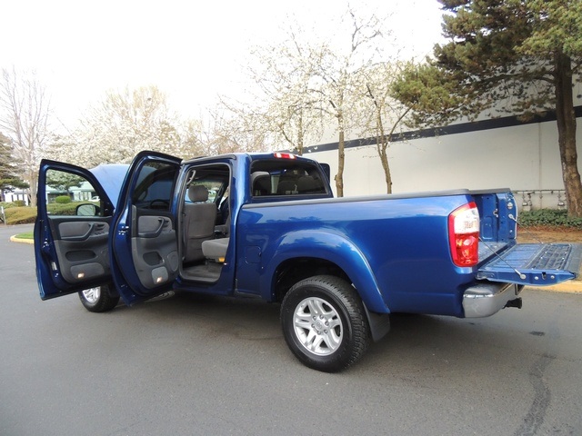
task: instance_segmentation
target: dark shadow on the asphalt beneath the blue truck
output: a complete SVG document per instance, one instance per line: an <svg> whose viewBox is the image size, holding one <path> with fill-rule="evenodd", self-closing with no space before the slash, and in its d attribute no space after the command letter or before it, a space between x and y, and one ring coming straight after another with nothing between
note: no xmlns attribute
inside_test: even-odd
<svg viewBox="0 0 582 436"><path fill-rule="evenodd" d="M148 323L182 324L183 328L233 341L272 341L271 345L288 357L279 309L279 304L255 299L170 292L131 309L120 305L115 312L134 312L137 318L145 316ZM534 333L527 335L530 342L543 340L543 332ZM387 367L392 373L426 372L431 377L439 371L491 372L493 377L497 374L492 372L494 368L516 363L515 354L507 350L515 349L515 342L522 341L524 334L508 331L491 318L393 314L390 332L381 341L371 343L364 358L348 372L384 371ZM531 352L536 352L535 346L528 354Z"/></svg>

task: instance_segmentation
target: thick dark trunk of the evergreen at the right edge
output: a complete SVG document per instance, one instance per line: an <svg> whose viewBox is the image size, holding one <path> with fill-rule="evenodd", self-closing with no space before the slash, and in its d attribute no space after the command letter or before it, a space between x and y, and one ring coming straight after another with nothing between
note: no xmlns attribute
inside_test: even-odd
<svg viewBox="0 0 582 436"><path fill-rule="evenodd" d="M582 183L577 166L576 114L572 99L572 61L563 53L556 54L556 117L557 143L566 189L567 213L582 218Z"/></svg>

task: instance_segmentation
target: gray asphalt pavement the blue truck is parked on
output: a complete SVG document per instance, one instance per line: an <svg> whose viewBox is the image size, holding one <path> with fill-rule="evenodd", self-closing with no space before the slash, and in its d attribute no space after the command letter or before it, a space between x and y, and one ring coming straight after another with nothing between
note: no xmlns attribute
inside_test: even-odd
<svg viewBox="0 0 582 436"><path fill-rule="evenodd" d="M582 434L582 294L486 319L396 315L346 372L296 362L278 307L169 294L108 313L41 302L0 226L0 434Z"/></svg>

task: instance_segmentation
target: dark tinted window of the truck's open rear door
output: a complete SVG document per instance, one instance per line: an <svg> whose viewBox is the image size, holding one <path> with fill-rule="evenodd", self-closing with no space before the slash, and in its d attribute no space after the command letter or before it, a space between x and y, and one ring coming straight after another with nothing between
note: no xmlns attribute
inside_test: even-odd
<svg viewBox="0 0 582 436"><path fill-rule="evenodd" d="M141 169L132 203L141 209L170 210L177 169L169 163L149 162Z"/></svg>

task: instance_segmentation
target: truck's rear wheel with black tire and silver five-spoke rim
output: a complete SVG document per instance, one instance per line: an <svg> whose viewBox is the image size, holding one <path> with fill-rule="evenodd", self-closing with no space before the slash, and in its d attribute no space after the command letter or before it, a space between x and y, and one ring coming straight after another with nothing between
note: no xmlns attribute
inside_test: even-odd
<svg viewBox="0 0 582 436"><path fill-rule="evenodd" d="M281 325L291 352L317 371L346 369L370 342L364 304L349 283L334 276L296 283L281 305Z"/></svg>

